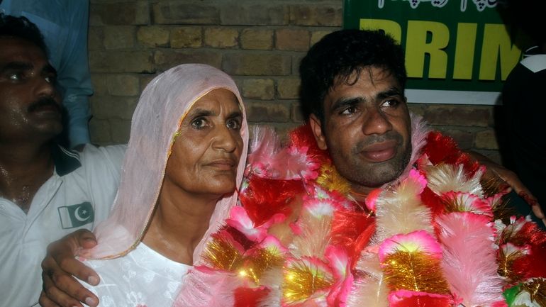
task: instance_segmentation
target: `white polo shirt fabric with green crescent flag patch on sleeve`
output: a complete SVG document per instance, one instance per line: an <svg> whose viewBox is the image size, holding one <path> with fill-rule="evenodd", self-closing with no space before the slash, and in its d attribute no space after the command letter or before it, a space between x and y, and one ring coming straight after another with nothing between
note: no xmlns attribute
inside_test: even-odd
<svg viewBox="0 0 546 307"><path fill-rule="evenodd" d="M40 262L48 244L74 230L91 229L108 217L125 149L124 145L87 145L79 154L82 165L64 176L57 174L56 169L35 194L28 214L15 203L0 198L1 307L37 304L42 289ZM76 154L64 154L78 159ZM69 206L85 202L94 210L94 222L90 221L89 212L76 211L80 220L87 217L89 223L82 221L84 225L72 227ZM78 221L74 217L72 214L72 221Z"/></svg>

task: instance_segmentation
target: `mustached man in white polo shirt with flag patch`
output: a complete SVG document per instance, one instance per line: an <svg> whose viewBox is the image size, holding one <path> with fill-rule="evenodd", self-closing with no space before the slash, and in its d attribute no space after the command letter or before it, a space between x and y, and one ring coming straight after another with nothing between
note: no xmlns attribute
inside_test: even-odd
<svg viewBox="0 0 546 307"><path fill-rule="evenodd" d="M42 35L0 14L0 306L38 303L48 244L104 220L125 146L55 144L62 106Z"/></svg>

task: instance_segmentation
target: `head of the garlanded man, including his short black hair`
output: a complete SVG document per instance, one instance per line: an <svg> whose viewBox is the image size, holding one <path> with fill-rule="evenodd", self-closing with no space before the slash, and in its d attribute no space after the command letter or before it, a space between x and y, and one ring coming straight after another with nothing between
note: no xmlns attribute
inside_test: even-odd
<svg viewBox="0 0 546 307"><path fill-rule="evenodd" d="M343 30L327 35L301 62L301 102L318 146L328 150L358 194L394 181L408 166L411 123L403 59L386 35ZM518 192L529 194L513 184L513 173L498 170Z"/></svg>

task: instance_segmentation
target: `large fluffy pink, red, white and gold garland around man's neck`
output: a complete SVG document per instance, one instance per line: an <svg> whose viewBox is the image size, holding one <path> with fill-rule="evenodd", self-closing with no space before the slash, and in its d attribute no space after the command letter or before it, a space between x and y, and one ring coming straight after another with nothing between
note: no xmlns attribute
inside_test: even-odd
<svg viewBox="0 0 546 307"><path fill-rule="evenodd" d="M451 138L413 124L419 155L365 206L307 126L286 147L255 132L243 206L174 306L546 307L545 233L506 217L506 189Z"/></svg>

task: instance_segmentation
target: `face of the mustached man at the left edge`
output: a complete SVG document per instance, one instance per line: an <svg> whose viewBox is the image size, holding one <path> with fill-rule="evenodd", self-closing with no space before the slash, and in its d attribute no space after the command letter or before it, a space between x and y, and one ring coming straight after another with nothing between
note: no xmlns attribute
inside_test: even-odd
<svg viewBox="0 0 546 307"><path fill-rule="evenodd" d="M27 40L0 37L0 142L50 140L62 131L55 69Z"/></svg>

